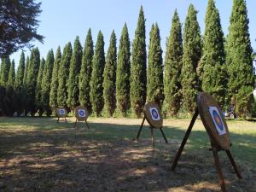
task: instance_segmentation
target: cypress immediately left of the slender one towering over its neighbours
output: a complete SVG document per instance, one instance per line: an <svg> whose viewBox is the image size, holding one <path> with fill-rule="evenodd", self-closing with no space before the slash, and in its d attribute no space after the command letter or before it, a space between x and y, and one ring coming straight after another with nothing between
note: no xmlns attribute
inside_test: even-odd
<svg viewBox="0 0 256 192"><path fill-rule="evenodd" d="M128 28L123 27L119 40L119 53L116 70L116 99L119 111L125 116L130 108L130 74L131 74L131 44Z"/></svg>

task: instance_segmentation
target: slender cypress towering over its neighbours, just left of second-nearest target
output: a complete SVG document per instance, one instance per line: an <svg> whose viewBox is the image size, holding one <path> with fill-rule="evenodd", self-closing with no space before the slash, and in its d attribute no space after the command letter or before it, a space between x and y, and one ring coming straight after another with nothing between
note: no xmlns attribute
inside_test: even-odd
<svg viewBox="0 0 256 192"><path fill-rule="evenodd" d="M147 53L146 53L146 29L143 6L140 9L137 20L137 29L132 44L131 55L131 107L140 117L147 94Z"/></svg>

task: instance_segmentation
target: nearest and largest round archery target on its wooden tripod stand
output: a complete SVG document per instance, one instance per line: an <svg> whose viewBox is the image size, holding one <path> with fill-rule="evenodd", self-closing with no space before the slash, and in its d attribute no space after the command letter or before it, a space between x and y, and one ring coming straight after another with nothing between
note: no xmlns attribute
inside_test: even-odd
<svg viewBox="0 0 256 192"><path fill-rule="evenodd" d="M189 138L189 134L193 128L193 125L195 124L195 120L198 114L200 114L201 121L205 126L207 134L211 140L212 148L210 150L212 150L215 166L218 172L219 185L221 190L226 192L227 190L225 187L224 175L220 167L218 151L224 150L226 152L238 178L241 178L241 173L238 171L236 162L230 152L230 132L228 130L228 126L224 119L223 113L221 113L221 108L219 108L218 103L214 101L213 97L205 92L202 92L197 97L197 108L195 109L195 114L189 124L189 128L183 137L183 142L181 143L181 146L177 151L177 155L172 163L172 171L174 171L175 167L177 166L177 160L183 152L183 148Z"/></svg>

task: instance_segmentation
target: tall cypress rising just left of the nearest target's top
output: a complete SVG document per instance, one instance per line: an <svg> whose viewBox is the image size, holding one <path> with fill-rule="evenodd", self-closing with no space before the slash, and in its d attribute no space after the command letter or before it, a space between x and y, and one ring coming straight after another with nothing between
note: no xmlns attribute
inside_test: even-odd
<svg viewBox="0 0 256 192"><path fill-rule="evenodd" d="M201 59L201 35L196 13L194 6L190 4L183 32L183 68L181 74L183 108L190 113L195 111L196 96L199 91L196 67Z"/></svg>

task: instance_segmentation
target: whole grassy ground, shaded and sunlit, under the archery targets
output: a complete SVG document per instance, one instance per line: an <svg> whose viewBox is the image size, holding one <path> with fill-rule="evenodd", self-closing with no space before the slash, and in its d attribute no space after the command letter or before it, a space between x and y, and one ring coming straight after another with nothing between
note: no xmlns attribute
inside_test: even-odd
<svg viewBox="0 0 256 192"><path fill-rule="evenodd" d="M143 129L142 119L89 119L90 129L74 119L0 118L0 191L220 191L209 139L201 121L184 148L175 172L172 160L189 119L164 120L169 141ZM221 165L228 191L256 191L256 123L228 121L231 152L239 180L224 152ZM148 126L146 126L148 127Z"/></svg>

